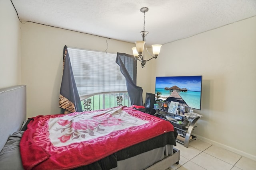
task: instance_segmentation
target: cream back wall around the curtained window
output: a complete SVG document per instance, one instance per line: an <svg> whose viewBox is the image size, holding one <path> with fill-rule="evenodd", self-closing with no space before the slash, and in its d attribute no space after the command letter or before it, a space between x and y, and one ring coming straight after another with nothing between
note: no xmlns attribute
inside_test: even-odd
<svg viewBox="0 0 256 170"><path fill-rule="evenodd" d="M108 39L108 53L132 54L134 44ZM106 38L27 22L22 25L22 84L27 85L27 117L60 113L63 48L105 51ZM148 63L147 63L148 64ZM150 64L138 63L137 85L150 91ZM147 83L148 82L148 83Z"/></svg>

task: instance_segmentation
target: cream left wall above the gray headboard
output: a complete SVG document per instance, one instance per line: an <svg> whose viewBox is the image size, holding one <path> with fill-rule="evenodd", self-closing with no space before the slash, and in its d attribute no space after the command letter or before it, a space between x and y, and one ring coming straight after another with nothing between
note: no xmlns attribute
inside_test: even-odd
<svg viewBox="0 0 256 170"><path fill-rule="evenodd" d="M0 88L21 83L20 21L10 0L0 0Z"/></svg>

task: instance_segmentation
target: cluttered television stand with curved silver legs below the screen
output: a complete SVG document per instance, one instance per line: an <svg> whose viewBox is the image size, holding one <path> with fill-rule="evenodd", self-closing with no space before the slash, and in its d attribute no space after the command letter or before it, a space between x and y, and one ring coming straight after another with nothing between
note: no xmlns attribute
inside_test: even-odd
<svg viewBox="0 0 256 170"><path fill-rule="evenodd" d="M170 121L172 123L173 127L176 129L178 132L178 137L176 138L176 141L178 143L182 143L184 147L188 147L188 143L194 139L196 139L196 136L191 135L192 131L196 127L196 122L202 117L202 115L199 115L197 113L193 113L191 116L186 117L184 115L180 114L173 114L173 113L168 113L167 111L163 111L161 108L156 109L156 114L157 117L160 117L166 121ZM194 116L197 115L197 116ZM188 121L189 124L179 124L178 121L175 121L174 119L167 118L168 116L178 116L182 117L184 120L183 122ZM181 135L179 135L181 134Z"/></svg>

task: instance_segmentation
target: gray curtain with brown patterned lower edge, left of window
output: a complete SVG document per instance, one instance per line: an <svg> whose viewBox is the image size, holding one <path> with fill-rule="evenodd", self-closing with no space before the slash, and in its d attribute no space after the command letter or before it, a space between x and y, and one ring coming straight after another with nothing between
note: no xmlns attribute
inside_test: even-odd
<svg viewBox="0 0 256 170"><path fill-rule="evenodd" d="M61 108L61 113L64 114L83 111L66 45L63 49L63 75L60 86L59 107Z"/></svg>

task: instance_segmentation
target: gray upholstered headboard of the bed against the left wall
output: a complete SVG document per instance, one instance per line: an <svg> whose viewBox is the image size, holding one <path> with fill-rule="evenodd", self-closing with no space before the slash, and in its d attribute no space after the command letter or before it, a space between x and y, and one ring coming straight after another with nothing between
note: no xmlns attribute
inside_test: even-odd
<svg viewBox="0 0 256 170"><path fill-rule="evenodd" d="M0 151L8 137L26 120L26 86L0 89Z"/></svg>

